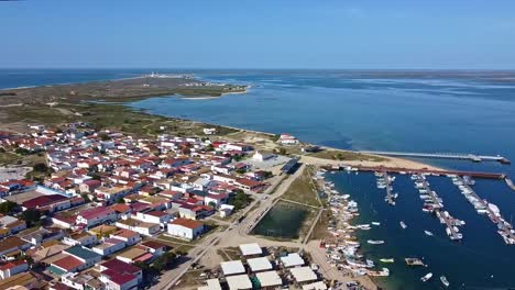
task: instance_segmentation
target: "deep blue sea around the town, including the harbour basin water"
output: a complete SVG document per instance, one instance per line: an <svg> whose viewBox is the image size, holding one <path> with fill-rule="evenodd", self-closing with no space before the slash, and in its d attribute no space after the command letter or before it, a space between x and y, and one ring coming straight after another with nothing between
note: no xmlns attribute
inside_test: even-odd
<svg viewBox="0 0 515 290"><path fill-rule="evenodd" d="M144 70L0 70L0 88L133 77ZM162 72L175 72L174 70ZM191 71L188 71L191 72ZM207 80L250 85L246 94L194 100L160 97L130 105L151 113L199 120L274 133L287 132L317 144L353 149L501 154L515 161L515 82L496 72L481 76L427 71L409 76L366 71L198 70ZM391 71L390 71L391 72ZM514 166L496 163L425 160L438 166L505 172ZM467 224L462 243L450 242L437 220L421 212L410 180L399 176L396 207L387 207L373 176L332 175L342 191L360 204L357 222L381 221L362 238L385 239L364 245L373 258L394 257L388 289L438 289L446 275L452 289L515 287L515 246L505 245L494 225L478 215L447 178L431 178L431 187L449 212ZM497 204L509 220L515 191L494 180L478 180L476 192ZM408 224L401 231L398 221ZM435 237L424 235L424 230ZM427 269L407 268L404 257L425 257ZM432 271L431 282L419 277ZM464 285L464 286L463 286Z"/></svg>

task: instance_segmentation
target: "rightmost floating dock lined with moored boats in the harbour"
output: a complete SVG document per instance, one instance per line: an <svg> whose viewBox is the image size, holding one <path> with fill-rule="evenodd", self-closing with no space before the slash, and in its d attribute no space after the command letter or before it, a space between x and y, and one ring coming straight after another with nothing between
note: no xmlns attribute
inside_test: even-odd
<svg viewBox="0 0 515 290"><path fill-rule="evenodd" d="M489 203L486 200L481 199L478 193L463 180L461 177L452 177L452 182L458 186L461 193L474 207L479 214L486 214L490 220L496 224L497 233L503 237L504 242L508 245L515 244L515 231L512 224L501 215L498 208L495 204Z"/></svg>

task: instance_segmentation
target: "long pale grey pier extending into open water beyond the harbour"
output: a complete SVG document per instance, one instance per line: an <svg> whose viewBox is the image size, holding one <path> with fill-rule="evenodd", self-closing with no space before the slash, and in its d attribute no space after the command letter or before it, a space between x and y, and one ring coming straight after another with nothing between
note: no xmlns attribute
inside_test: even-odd
<svg viewBox="0 0 515 290"><path fill-rule="evenodd" d="M434 159L454 159L454 160L472 160L481 161L497 161L501 164L511 164L503 156L461 154L461 153L413 153L413 152L385 152L385 150L362 150L363 154L386 155L393 157L413 157L413 158L434 158Z"/></svg>

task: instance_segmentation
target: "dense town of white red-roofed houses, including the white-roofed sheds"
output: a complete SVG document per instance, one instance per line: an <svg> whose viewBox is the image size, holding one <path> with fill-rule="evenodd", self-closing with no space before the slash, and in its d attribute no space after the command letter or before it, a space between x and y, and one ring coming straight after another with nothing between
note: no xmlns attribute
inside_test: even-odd
<svg viewBox="0 0 515 290"><path fill-rule="evenodd" d="M204 133L150 140L81 122L2 132L2 153L40 161L2 170L0 288L191 288L182 276L202 250L230 231L245 232L245 216L263 215L304 169L297 158L212 141L216 129ZM283 134L277 143L299 142ZM235 245L241 259L220 261L221 272L210 270L200 288L331 286L302 246L265 244Z"/></svg>

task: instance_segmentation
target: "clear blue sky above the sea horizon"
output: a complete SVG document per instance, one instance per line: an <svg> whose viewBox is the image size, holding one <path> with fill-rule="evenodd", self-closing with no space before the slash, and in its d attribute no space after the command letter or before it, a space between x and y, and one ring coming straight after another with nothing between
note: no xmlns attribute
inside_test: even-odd
<svg viewBox="0 0 515 290"><path fill-rule="evenodd" d="M0 68L515 69L515 1L0 1Z"/></svg>

